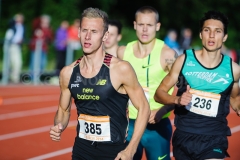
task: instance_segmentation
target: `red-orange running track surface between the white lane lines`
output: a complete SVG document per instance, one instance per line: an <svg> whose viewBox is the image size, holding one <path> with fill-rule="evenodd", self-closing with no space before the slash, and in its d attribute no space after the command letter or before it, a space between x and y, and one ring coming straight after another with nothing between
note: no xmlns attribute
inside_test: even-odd
<svg viewBox="0 0 240 160"><path fill-rule="evenodd" d="M33 87L34 88L34 93L38 94L40 97L42 95L44 95L44 93L46 93L46 91L48 91L49 89L47 87L41 88L42 86L40 86L38 89L38 87ZM48 86L49 87L49 86ZM22 87L6 87L6 90L8 90L7 93L9 95L2 95L3 90L1 88L0 91L0 97L6 97L6 98L14 98L14 97L18 97L18 94L15 94L14 97L11 97L11 92L10 90L19 90L22 92L21 93L21 97L24 97L25 95L25 91L29 91L31 87L29 87L28 89L25 89L24 86ZM50 92L52 93L56 93L57 96L59 96L59 87L50 87ZM44 93L42 93L44 92ZM9 96L9 97L8 97ZM31 94L27 93L26 96L31 96ZM51 104L49 104L51 103ZM28 111L31 109L41 109L41 108L47 108L49 106L53 106L53 105L57 105L58 104L58 100L56 100L55 102L39 102L39 104L35 104L34 103L22 103L16 106L15 105L7 105L7 106L3 106L0 103L0 115L1 113L1 109L2 107L4 107L4 109L8 109L11 107L18 107L20 108L20 110L18 111L22 111L21 109L24 108L23 111ZM29 105L29 106L28 106ZM26 107L28 106L28 107ZM26 108L25 108L26 107ZM73 108L75 106L72 106ZM12 112L16 112L16 110L11 110L7 113L12 113ZM48 115L49 116L46 116ZM2 120L0 120L0 125L3 126L3 128L7 128L8 125L11 125L11 123L13 123L14 125L12 125L10 128L18 128L17 125L19 125L20 123L16 123L16 121L18 122L22 122L22 127L26 127L26 129L31 129L29 128L32 123L35 123L35 127L33 128L37 128L37 127L41 127L40 124L42 124L42 126L47 126L47 125L51 125L53 122L53 117L54 117L54 113L48 113L48 114L40 114L37 116L32 116L29 115L27 116L28 118L25 119L26 117L18 117L18 118L12 118L12 119L6 119L6 121L4 123L1 123ZM39 116L39 117L38 117ZM37 121L35 121L35 117L38 117ZM170 115L170 118L173 119L174 114L172 113ZM237 119L239 117L236 116L235 113L230 113L229 117L228 117L228 121L229 121L229 126L230 127L236 127L238 125L240 125L240 121ZM15 119L15 121L14 121ZM25 120L24 120L25 119ZM33 121L34 119L34 121ZM39 121L39 119L42 119ZM13 121L11 121L13 120ZM46 121L45 121L46 120ZM76 121L76 110L74 111L74 113L71 115L71 120ZM29 127L28 127L29 125ZM37 127L36 127L37 126ZM10 128L8 128L10 130ZM173 126L174 128L174 126ZM18 129L15 129L14 131L22 131L23 128L19 127ZM2 129L1 129L2 130ZM1 130L0 130L0 135L1 135ZM6 132L8 133L12 133L12 132ZM69 147L72 147L73 145L73 141L74 141L74 137L76 136L76 131L75 131L75 127L69 127L67 128L62 135L62 140L61 142L53 142L51 141L50 137L49 137L49 131L45 131L45 132L41 132L41 133L36 133L36 134L31 134L28 136L22 136L22 137L18 137L18 138L13 138L13 139L8 139L8 140L4 140L4 141L0 141L1 145L0 145L0 157L3 157L4 160L8 160L8 159L29 159L29 158L34 158L34 157L38 157L41 155L46 155L48 153L57 153L57 151L62 150L62 149L66 149ZM234 132L233 135L231 137L229 137L229 153L231 155L231 160L239 160L239 151L238 148L240 147L240 144L238 143L238 137L240 136L240 132ZM8 151L10 150L10 151ZM1 159L1 158L0 158ZM70 153L65 153L62 155L57 155L55 154L54 157L51 158L46 158L49 160L57 160L57 159L71 159L71 152ZM174 158L172 158L174 159Z"/></svg>

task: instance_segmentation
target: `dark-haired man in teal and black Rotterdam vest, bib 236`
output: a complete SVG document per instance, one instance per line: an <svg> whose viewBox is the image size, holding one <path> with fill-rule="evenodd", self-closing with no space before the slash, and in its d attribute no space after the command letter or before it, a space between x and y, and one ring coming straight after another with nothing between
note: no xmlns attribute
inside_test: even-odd
<svg viewBox="0 0 240 160"><path fill-rule="evenodd" d="M176 160L228 157L229 105L240 114L240 67L221 53L228 18L208 11L200 20L201 50L186 50L163 79L155 100L175 104L173 155ZM168 90L178 82L177 96Z"/></svg>

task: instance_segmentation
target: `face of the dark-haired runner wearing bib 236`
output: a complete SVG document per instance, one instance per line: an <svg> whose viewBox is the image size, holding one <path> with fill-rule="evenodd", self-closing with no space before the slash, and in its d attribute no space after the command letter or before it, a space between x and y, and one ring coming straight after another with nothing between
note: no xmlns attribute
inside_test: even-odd
<svg viewBox="0 0 240 160"><path fill-rule="evenodd" d="M203 24L200 33L203 47L208 52L215 52L221 49L223 42L226 41L227 35L224 36L224 26L219 20L209 19Z"/></svg>

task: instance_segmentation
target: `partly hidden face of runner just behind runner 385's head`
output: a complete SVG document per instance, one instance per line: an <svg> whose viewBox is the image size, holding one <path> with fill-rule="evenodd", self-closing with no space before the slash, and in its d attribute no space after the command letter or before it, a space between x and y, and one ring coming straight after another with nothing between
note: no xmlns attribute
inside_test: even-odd
<svg viewBox="0 0 240 160"><path fill-rule="evenodd" d="M114 45L118 45L120 35L118 35L118 28L116 26L108 26L108 39L104 42L105 48L111 48Z"/></svg>

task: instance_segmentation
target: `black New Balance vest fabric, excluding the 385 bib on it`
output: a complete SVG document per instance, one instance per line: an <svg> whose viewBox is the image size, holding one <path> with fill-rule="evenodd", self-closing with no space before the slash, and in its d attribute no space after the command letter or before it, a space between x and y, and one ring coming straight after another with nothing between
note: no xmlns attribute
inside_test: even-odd
<svg viewBox="0 0 240 160"><path fill-rule="evenodd" d="M74 98L78 116L110 117L111 140L100 142L122 144L125 143L128 132L127 103L129 96L117 92L112 86L109 69L111 58L110 54L105 55L100 71L92 78L85 78L81 75L79 65L82 58L79 58L73 68L68 88ZM86 126L80 126L80 122L78 122L77 137L80 127Z"/></svg>

